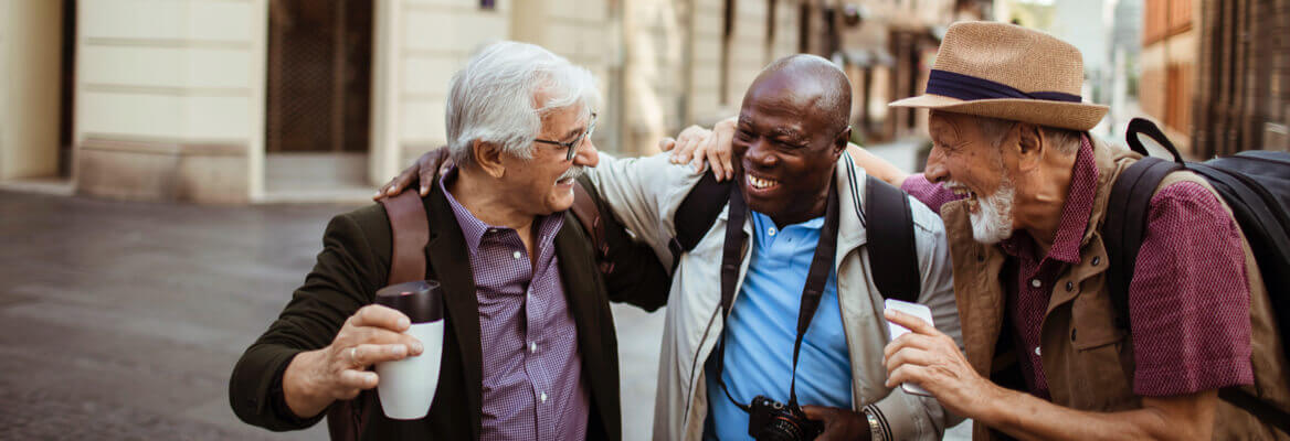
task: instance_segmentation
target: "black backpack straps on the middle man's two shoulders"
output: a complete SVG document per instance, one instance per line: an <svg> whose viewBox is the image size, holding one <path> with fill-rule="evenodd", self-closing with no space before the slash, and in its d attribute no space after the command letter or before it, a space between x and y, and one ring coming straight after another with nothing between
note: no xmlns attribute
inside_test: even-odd
<svg viewBox="0 0 1290 441"><path fill-rule="evenodd" d="M851 195L855 195L858 191L855 164L850 159L845 162L851 175L848 184L851 187ZM681 254L693 250L708 230L712 230L712 224L730 197L730 186L734 182L717 182L710 170L681 201L673 218L676 237L668 242L673 272ZM909 197L899 188L873 177L867 177L864 188L864 200L868 205L862 208L859 201L855 201L854 206L860 211L857 214L868 230L866 246L869 249L869 272L873 284L877 285L882 298L917 302L922 282L913 242L913 213L909 210Z"/></svg>

